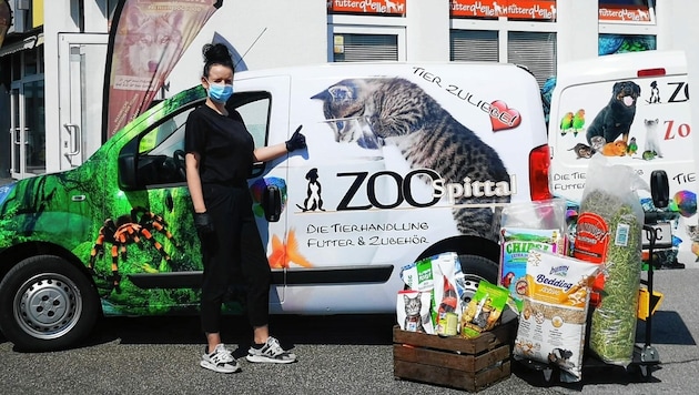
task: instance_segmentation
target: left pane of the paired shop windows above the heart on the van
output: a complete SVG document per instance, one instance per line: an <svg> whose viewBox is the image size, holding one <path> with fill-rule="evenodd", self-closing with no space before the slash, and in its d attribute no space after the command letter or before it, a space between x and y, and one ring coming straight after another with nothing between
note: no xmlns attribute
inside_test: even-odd
<svg viewBox="0 0 699 395"><path fill-rule="evenodd" d="M452 61L499 61L497 31L452 30L449 36Z"/></svg>

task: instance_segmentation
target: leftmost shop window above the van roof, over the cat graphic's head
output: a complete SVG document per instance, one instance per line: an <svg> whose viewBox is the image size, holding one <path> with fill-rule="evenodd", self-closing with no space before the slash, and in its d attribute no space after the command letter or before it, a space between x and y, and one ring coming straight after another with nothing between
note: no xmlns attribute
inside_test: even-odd
<svg viewBox="0 0 699 395"><path fill-rule="evenodd" d="M396 34L334 34L334 62L397 61Z"/></svg>

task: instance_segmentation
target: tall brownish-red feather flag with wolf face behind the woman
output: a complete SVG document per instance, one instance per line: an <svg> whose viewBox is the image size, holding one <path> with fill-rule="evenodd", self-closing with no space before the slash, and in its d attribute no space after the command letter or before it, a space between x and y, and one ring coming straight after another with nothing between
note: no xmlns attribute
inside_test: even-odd
<svg viewBox="0 0 699 395"><path fill-rule="evenodd" d="M125 0L110 33L107 138L148 109L221 3L222 0Z"/></svg>

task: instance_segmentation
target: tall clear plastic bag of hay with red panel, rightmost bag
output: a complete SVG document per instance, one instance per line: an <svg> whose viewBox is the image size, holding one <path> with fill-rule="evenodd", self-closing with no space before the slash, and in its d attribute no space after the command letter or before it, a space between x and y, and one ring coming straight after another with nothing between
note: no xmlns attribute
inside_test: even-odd
<svg viewBox="0 0 699 395"><path fill-rule="evenodd" d="M590 160L577 223L574 256L604 263L594 285L589 348L608 364L634 357L640 286L644 210L636 191L649 190L626 165Z"/></svg>

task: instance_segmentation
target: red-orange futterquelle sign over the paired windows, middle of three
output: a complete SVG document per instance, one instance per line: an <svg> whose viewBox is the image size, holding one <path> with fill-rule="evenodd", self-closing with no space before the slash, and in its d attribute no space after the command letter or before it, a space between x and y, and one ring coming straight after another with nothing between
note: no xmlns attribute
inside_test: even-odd
<svg viewBox="0 0 699 395"><path fill-rule="evenodd" d="M556 1L452 0L452 17L556 20Z"/></svg>

